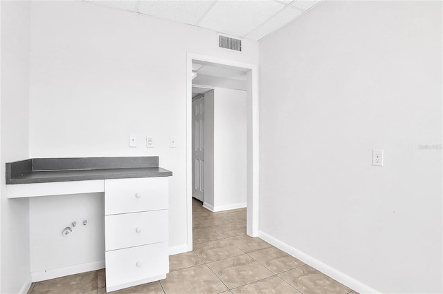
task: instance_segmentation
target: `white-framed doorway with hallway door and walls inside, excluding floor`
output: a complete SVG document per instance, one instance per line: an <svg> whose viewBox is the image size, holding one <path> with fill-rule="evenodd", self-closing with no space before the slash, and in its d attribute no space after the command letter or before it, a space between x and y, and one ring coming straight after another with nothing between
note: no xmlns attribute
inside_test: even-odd
<svg viewBox="0 0 443 294"><path fill-rule="evenodd" d="M246 233L257 237L257 67L250 63L188 53L187 91L188 251L192 250L192 203L195 206L195 199L213 212L247 207ZM222 99L224 97L228 98ZM220 115L220 111L224 114ZM214 119L215 114L217 119ZM215 133L208 136L214 131L220 136ZM218 139L211 141L208 137ZM224 139L233 139L238 150L233 148L235 144L224 148ZM205 148L207 150L203 152ZM237 168L233 162L238 163ZM219 193L214 193L214 187L210 186L214 184L214 175L211 174L214 170L215 173L223 170L218 175L226 175L216 187ZM236 170L239 171L239 179L235 179ZM220 180L219 177L216 177L217 180ZM219 187L228 190L218 190Z"/></svg>

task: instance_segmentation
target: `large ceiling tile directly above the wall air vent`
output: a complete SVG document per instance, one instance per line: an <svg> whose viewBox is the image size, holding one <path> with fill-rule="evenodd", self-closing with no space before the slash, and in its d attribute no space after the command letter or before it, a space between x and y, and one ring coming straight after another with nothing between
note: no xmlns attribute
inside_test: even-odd
<svg viewBox="0 0 443 294"><path fill-rule="evenodd" d="M243 37L282 8L276 1L217 1L197 26Z"/></svg>

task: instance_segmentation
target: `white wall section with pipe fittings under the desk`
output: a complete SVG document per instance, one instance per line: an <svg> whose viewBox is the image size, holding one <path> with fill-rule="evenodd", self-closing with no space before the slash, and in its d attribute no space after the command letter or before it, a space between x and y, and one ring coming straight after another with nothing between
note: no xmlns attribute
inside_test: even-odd
<svg viewBox="0 0 443 294"><path fill-rule="evenodd" d="M66 268L69 273L105 266L104 193L33 197L29 202L33 210L29 219L33 282L56 277L57 271L51 271L55 268L70 266ZM73 222L77 225L72 226ZM64 237L66 226L73 231ZM60 254L61 248L64 254Z"/></svg>

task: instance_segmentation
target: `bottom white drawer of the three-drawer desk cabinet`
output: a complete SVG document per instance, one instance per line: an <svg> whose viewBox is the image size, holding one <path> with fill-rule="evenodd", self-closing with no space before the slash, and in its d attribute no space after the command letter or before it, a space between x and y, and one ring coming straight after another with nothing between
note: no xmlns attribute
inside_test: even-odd
<svg viewBox="0 0 443 294"><path fill-rule="evenodd" d="M168 242L108 251L105 255L107 288L169 272Z"/></svg>

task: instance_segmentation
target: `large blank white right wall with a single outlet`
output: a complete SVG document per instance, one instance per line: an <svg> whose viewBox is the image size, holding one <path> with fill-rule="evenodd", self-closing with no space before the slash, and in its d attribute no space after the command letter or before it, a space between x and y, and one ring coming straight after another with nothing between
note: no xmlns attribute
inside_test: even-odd
<svg viewBox="0 0 443 294"><path fill-rule="evenodd" d="M325 1L260 42L261 235L356 291L442 293L442 49L441 1Z"/></svg>

